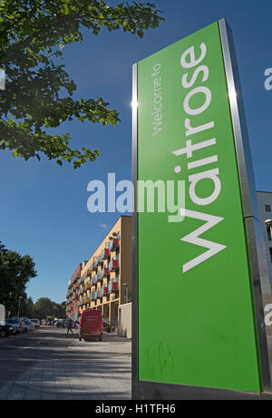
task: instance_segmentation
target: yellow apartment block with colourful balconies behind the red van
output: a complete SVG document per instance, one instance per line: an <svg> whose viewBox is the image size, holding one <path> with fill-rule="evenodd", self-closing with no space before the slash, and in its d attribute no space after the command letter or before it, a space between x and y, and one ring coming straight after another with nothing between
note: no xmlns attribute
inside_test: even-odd
<svg viewBox="0 0 272 418"><path fill-rule="evenodd" d="M73 275L69 297L74 295L78 316L83 309L99 309L105 322L118 326L118 306L131 302L131 261L131 217L121 216L92 257L83 262L80 275L78 269ZM67 315L71 314L68 310Z"/></svg>

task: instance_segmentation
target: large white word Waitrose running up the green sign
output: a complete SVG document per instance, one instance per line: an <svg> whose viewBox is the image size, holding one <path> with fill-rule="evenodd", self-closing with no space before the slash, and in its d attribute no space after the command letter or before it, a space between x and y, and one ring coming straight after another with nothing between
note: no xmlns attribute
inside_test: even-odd
<svg viewBox="0 0 272 418"><path fill-rule="evenodd" d="M188 180L189 180L189 198L196 205L207 206L213 203L218 199L221 191L221 181L219 179L219 168L218 168L218 154L217 154L217 140L216 138L210 138L209 140L204 139L213 135L213 129L215 128L215 121L205 122L196 126L198 118L194 122L194 117L199 116L206 111L209 111L209 105L212 99L212 92L208 86L205 85L205 82L209 79L209 66L203 64L203 60L207 55L207 45L203 42L199 45L199 58L196 58L195 46L190 46L184 53L182 53L180 58L180 65L183 70L181 77L181 86L184 90L189 91L184 97L183 101L183 111L186 114L184 119L184 138L189 137L185 142L185 146L179 150L173 151L173 154L176 156L185 156L185 161L182 159L182 164L187 165L188 170ZM188 71L188 73L184 73ZM193 69L191 74L189 70ZM204 83L204 85L203 85ZM200 84L200 85L199 85ZM196 100L195 106L191 107L191 102ZM197 102L197 100L201 102ZM205 114L204 114L205 117ZM209 121L210 116L208 115ZM216 119L216 115L213 118ZM192 121L192 122L191 122ZM194 126L193 126L194 125ZM201 132L202 140L198 140L198 134ZM184 143L183 142L183 143ZM182 142L181 142L182 143ZM200 151L203 149L209 148L209 157L201 158ZM206 150L205 150L206 151ZM181 160L181 159L180 159ZM181 166L176 166L176 172L181 171ZM214 168L216 167L216 168ZM196 169L196 170L194 170ZM211 180L211 185L213 187L212 192L206 197L199 197L196 189L199 184L203 183L201 180ZM224 245L199 238L199 235L209 230L209 228L217 225L224 218L201 213L195 210L189 210L185 208L180 209L180 214L185 217L193 219L201 219L206 222L206 224L184 238L181 238L183 241L209 248L206 253L201 254L197 258L190 260L185 263L182 267L183 272L188 271L190 268L198 266L200 263L206 259L214 256L222 249L226 248Z"/></svg>

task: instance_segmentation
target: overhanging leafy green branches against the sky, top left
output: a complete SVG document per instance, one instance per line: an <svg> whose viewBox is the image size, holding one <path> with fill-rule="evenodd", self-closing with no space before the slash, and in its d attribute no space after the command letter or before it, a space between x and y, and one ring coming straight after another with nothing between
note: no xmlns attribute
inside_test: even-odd
<svg viewBox="0 0 272 418"><path fill-rule="evenodd" d="M2 0L0 5L0 63L5 91L0 102L0 149L24 160L41 154L73 167L95 160L99 151L70 147L70 134L55 135L49 128L66 121L111 123L120 121L101 97L73 99L76 85L65 72L63 47L83 42L82 29L93 35L102 28L142 37L156 28L160 10L151 3L116 6L102 0Z"/></svg>

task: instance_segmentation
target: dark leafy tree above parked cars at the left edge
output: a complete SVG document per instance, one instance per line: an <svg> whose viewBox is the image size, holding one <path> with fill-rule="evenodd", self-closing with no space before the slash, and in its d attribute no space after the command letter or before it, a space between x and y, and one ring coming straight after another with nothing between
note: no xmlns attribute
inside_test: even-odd
<svg viewBox="0 0 272 418"><path fill-rule="evenodd" d="M17 315L19 297L26 299L26 285L36 277L34 267L33 258L5 248L0 241L0 303L11 315Z"/></svg>

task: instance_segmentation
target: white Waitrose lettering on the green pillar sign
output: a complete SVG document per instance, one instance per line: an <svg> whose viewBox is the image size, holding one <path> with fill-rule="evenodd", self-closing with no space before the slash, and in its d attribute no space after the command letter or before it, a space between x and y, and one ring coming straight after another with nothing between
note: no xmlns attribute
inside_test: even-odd
<svg viewBox="0 0 272 418"><path fill-rule="evenodd" d="M180 58L180 65L183 68L193 68L199 65L202 62L204 57L207 53L206 44L201 43L199 45L200 53L199 57L196 57L195 47L190 46L188 50L182 53ZM209 67L207 65L199 65L194 73L192 74L191 78L189 79L189 73L185 73L181 78L182 87L185 89L190 89L193 85L200 79L200 82L206 82L209 79ZM199 108L193 109L190 107L190 99L197 95L201 94L203 97L203 101ZM197 86L190 90L187 95L185 96L183 102L183 109L187 113L187 115L195 116L199 115L200 113L205 112L209 108L209 104L212 100L212 93L210 92L209 88L206 86ZM193 126L193 119L186 118L184 122L185 127L185 136L192 137L196 133L209 131L210 129L214 128L215 122L210 121L203 125ZM199 167L208 166L208 170L200 171L195 174L189 175L189 198L199 206L209 205L210 203L214 202L219 197L219 193L221 190L221 181L219 179L219 168L212 168L210 164L214 164L218 161L218 155L215 153L208 158L198 160L198 151L202 148L211 147L211 152L216 152L216 138L211 138L209 140L200 141L196 143L192 143L192 139L189 139L185 142L185 146L180 148L180 150L172 151L174 155L180 157L181 155L186 155L187 159L195 158L196 160L188 161L187 167L188 170L196 169ZM175 168L175 172L180 172L180 166ZM200 198L196 193L196 186L199 181L203 179L212 180L214 189L210 196L206 198ZM200 256L193 258L189 262L183 264L182 271L186 273L191 268L198 266L203 261L207 260L210 257L218 254L219 251L226 248L225 245L209 241L208 239L199 238L199 235L203 234L204 232L208 231L210 228L216 226L221 222L224 218L220 218L214 215L209 215L207 213L198 212L195 210L189 209L180 209L180 215L188 218L193 219L201 219L205 220L206 223L201 227L195 229L193 232L190 232L186 237L180 238L181 241L189 242L191 244L195 244L199 247L208 248L208 251L204 252Z"/></svg>

